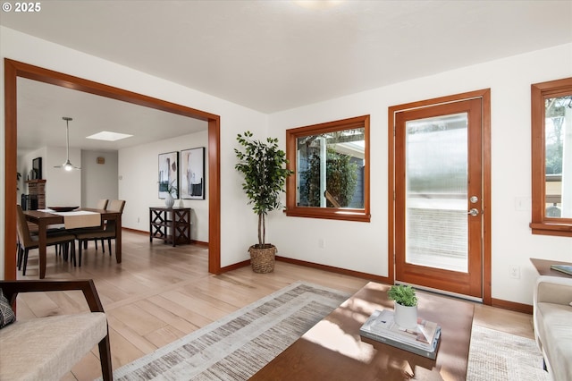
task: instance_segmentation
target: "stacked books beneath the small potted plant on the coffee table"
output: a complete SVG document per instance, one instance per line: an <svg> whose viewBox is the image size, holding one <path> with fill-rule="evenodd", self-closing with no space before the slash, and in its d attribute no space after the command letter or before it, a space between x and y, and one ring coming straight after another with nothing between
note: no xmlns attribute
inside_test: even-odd
<svg viewBox="0 0 572 381"><path fill-rule="evenodd" d="M437 357L441 326L418 318L416 328L404 328L393 320L393 311L376 309L359 328L359 334L434 360Z"/></svg>

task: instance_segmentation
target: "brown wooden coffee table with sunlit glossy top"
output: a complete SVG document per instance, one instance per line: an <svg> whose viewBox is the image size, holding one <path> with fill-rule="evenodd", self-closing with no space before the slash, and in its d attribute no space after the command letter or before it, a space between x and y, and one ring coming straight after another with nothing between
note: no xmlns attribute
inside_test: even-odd
<svg viewBox="0 0 572 381"><path fill-rule="evenodd" d="M387 284L369 283L260 369L252 380L465 380L473 304L417 292L418 314L442 326L435 360L363 338L375 309L393 309Z"/></svg>

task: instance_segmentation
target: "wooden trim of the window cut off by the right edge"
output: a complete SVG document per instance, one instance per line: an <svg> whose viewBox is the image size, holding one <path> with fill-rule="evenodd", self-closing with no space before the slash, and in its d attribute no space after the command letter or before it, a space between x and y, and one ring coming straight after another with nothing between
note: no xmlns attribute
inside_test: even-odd
<svg viewBox="0 0 572 381"><path fill-rule="evenodd" d="M544 99L572 94L572 78L551 80L531 85L531 131L532 131L532 221L533 234L572 237L572 218L547 217Z"/></svg>

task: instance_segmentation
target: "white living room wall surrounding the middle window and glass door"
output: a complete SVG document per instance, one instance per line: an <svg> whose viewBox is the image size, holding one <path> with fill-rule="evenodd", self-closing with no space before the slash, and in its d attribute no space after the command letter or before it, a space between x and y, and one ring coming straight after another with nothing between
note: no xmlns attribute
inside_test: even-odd
<svg viewBox="0 0 572 381"><path fill-rule="evenodd" d="M530 85L572 76L572 44L478 64L385 88L270 115L269 134L371 114L370 224L287 217L274 213L269 241L280 255L388 275L387 109L476 89L492 94L492 298L532 303L536 272L529 258L572 261L572 238L531 234ZM527 210L516 210L516 199ZM296 239L292 239L296 237ZM325 240L320 249L319 238ZM521 268L520 279L509 277Z"/></svg>

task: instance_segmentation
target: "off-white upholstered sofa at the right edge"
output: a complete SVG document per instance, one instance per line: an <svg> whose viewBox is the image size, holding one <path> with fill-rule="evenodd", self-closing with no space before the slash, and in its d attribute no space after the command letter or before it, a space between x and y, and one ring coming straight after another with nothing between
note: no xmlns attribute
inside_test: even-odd
<svg viewBox="0 0 572 381"><path fill-rule="evenodd" d="M540 276L533 307L534 336L549 374L572 380L572 277Z"/></svg>

